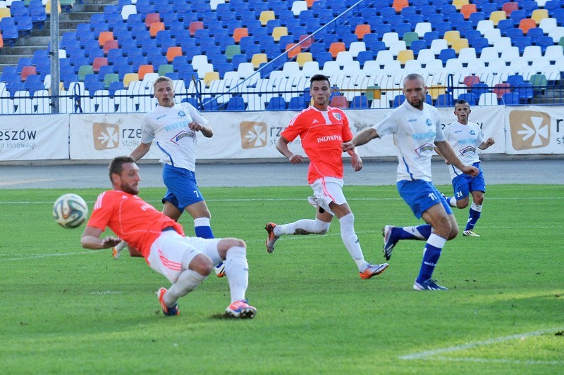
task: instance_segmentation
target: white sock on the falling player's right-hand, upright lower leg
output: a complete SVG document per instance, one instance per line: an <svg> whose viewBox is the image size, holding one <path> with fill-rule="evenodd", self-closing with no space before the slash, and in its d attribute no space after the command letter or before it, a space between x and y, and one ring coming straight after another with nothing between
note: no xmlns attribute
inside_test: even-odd
<svg viewBox="0 0 564 375"><path fill-rule="evenodd" d="M245 248L233 246L227 250L225 273L229 282L231 303L244 300L247 286L249 286L249 264Z"/></svg>

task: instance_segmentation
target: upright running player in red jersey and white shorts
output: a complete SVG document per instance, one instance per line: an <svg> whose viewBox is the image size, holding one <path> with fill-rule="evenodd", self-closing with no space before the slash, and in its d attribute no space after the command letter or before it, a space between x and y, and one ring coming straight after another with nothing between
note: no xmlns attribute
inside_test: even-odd
<svg viewBox="0 0 564 375"><path fill-rule="evenodd" d="M274 243L283 234L326 234L336 216L341 224L341 239L355 261L360 277L369 279L381 274L388 267L371 265L364 260L362 248L355 233L355 215L343 194L343 150L341 144L353 139L348 119L343 110L329 106L331 84L329 77L314 75L310 79L309 92L313 106L302 110L283 130L276 141L276 148L290 163L303 163L304 157L290 151L288 144L300 136L302 147L309 158L307 183L312 186L314 196L309 203L317 208L315 220L298 220L290 224L266 224L268 239L266 251L274 251ZM348 151L356 172L362 169L362 160L356 149Z"/></svg>

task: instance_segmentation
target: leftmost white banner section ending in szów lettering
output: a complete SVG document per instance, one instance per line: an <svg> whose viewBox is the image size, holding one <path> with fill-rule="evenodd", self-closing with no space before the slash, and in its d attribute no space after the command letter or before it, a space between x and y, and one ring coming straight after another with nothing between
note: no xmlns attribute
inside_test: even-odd
<svg viewBox="0 0 564 375"><path fill-rule="evenodd" d="M68 115L2 116L0 160L68 159Z"/></svg>

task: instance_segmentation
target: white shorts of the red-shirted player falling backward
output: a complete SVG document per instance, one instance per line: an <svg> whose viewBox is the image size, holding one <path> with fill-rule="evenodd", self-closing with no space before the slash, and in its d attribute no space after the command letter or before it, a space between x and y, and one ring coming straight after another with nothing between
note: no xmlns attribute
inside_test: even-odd
<svg viewBox="0 0 564 375"><path fill-rule="evenodd" d="M147 263L174 284L180 272L188 269L188 265L198 254L203 253L212 258L214 265L221 262L217 253L219 240L185 237L176 231L164 231L151 245Z"/></svg>

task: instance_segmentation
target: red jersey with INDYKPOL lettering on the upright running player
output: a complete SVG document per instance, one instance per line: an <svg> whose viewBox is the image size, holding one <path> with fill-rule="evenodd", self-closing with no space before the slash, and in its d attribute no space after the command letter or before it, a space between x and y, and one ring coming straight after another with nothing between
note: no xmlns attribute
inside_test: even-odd
<svg viewBox="0 0 564 375"><path fill-rule="evenodd" d="M298 136L302 139L302 148L309 158L308 184L321 177L343 178L341 144L353 139L343 110L309 107L295 115L281 135L290 142Z"/></svg>

